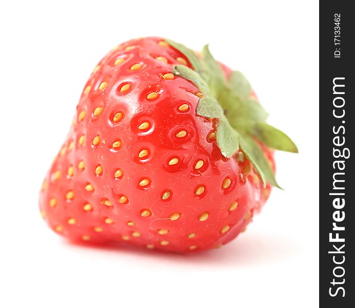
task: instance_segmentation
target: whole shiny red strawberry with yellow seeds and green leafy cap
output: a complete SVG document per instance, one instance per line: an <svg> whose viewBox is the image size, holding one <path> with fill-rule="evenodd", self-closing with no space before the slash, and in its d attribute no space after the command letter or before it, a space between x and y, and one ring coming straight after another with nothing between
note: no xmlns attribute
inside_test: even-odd
<svg viewBox="0 0 355 308"><path fill-rule="evenodd" d="M111 50L82 92L40 209L74 241L219 247L267 200L273 150L297 151L238 71L158 37Z"/></svg>

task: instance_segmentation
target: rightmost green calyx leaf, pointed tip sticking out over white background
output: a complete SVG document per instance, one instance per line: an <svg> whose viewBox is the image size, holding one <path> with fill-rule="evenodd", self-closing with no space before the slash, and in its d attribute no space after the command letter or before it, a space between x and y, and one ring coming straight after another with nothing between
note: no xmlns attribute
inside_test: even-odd
<svg viewBox="0 0 355 308"><path fill-rule="evenodd" d="M269 124L256 123L253 134L270 148L298 153L298 148L293 141L284 132Z"/></svg>

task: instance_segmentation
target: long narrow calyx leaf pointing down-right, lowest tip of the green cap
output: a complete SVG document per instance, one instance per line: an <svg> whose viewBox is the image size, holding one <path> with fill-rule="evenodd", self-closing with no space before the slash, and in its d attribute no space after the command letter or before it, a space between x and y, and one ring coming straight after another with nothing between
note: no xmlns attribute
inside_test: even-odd
<svg viewBox="0 0 355 308"><path fill-rule="evenodd" d="M281 188L276 182L273 170L259 144L246 136L240 139L240 145L247 159L259 172L264 187L266 182L269 182L271 185Z"/></svg>

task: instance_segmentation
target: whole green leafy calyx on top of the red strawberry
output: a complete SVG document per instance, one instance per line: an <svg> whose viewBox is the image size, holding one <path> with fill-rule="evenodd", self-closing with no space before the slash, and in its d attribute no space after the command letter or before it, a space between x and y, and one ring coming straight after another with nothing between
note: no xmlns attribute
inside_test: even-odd
<svg viewBox="0 0 355 308"><path fill-rule="evenodd" d="M297 146L281 130L266 124L268 113L252 95L252 88L239 71L233 71L229 80L211 55L206 45L199 59L184 45L165 40L183 53L193 69L184 65L174 66L172 73L191 81L204 94L200 99L197 114L218 119L217 144L222 155L231 158L238 150L259 172L263 185L266 182L280 188L275 180L258 140L266 146L288 152L298 152Z"/></svg>

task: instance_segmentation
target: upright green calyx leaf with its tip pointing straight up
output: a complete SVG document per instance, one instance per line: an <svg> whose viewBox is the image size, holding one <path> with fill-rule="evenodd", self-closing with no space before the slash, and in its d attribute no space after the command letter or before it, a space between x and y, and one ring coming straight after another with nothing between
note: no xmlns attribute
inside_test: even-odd
<svg viewBox="0 0 355 308"><path fill-rule="evenodd" d="M212 95L219 98L220 94L226 90L227 81L226 76L221 68L221 65L214 60L214 57L205 45L202 49L202 60L208 76L208 85L211 89Z"/></svg>

